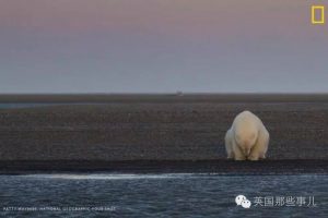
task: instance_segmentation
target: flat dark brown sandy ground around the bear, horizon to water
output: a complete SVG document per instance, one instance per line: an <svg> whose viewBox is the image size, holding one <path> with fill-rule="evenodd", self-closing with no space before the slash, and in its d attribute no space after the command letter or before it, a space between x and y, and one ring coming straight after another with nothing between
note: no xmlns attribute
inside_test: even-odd
<svg viewBox="0 0 328 218"><path fill-rule="evenodd" d="M253 167L243 166L253 165L262 172L328 172L323 167L328 95L11 95L0 96L0 102L57 104L0 109L2 172L133 171L133 166L162 171L172 166L251 173ZM225 131L243 110L258 114L271 134L267 160L241 165L225 159Z"/></svg>

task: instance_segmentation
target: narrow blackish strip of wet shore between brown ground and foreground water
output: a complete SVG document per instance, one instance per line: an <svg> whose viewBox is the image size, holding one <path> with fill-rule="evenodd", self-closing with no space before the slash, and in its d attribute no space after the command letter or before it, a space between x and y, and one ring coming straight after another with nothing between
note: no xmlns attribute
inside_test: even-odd
<svg viewBox="0 0 328 218"><path fill-rule="evenodd" d="M218 173L226 175L328 174L328 160L14 160L0 174L31 173Z"/></svg>

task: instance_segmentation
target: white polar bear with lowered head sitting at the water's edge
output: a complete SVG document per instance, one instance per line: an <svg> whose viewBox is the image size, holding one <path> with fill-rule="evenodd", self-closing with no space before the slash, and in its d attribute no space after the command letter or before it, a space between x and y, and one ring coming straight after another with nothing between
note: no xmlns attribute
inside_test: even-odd
<svg viewBox="0 0 328 218"><path fill-rule="evenodd" d="M249 111L236 116L225 134L227 158L235 160L265 159L270 135L262 121Z"/></svg>

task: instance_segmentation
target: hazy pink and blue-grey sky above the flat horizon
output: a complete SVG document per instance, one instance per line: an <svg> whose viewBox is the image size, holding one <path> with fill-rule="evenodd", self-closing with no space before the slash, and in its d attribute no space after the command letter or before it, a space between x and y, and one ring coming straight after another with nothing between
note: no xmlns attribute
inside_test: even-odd
<svg viewBox="0 0 328 218"><path fill-rule="evenodd" d="M0 94L328 93L328 0L0 0Z"/></svg>

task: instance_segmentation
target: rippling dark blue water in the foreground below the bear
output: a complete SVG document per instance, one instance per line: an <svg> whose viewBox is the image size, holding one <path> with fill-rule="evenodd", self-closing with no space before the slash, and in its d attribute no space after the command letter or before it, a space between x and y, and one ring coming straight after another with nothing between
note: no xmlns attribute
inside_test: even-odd
<svg viewBox="0 0 328 218"><path fill-rule="evenodd" d="M327 217L328 175L0 175L7 217ZM236 206L244 194L251 207ZM255 206L256 197L303 196L306 205ZM307 205L311 196L315 205ZM296 198L295 198L296 199ZM34 209L19 211L17 207ZM22 209L21 208L21 209ZM7 210L5 210L7 209Z"/></svg>

